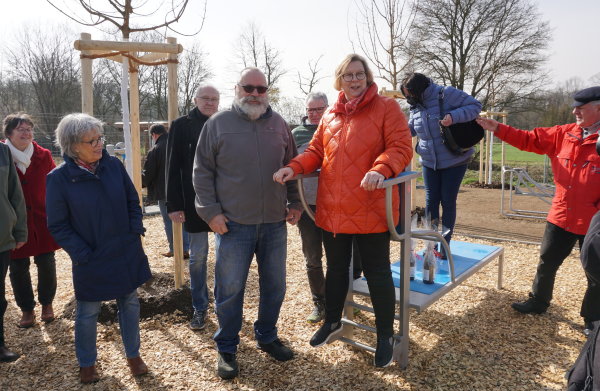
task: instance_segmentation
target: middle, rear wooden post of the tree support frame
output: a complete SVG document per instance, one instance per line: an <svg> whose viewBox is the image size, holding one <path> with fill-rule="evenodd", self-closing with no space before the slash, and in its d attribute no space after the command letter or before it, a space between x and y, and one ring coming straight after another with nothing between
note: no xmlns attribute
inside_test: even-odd
<svg viewBox="0 0 600 391"><path fill-rule="evenodd" d="M134 53L132 53L135 55ZM133 185L140 198L140 207L144 209L142 199L142 157L140 152L140 86L137 64L129 66L129 118L131 126L131 159L133 163Z"/></svg>

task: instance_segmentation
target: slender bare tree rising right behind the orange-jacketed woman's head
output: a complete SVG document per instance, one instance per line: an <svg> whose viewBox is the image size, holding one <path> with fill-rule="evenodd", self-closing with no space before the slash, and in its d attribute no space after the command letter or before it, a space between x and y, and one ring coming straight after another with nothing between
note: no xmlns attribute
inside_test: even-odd
<svg viewBox="0 0 600 391"><path fill-rule="evenodd" d="M379 77L400 88L402 73L411 60L406 46L415 11L408 0L357 0L358 48L375 64ZM354 48L354 42L352 42Z"/></svg>

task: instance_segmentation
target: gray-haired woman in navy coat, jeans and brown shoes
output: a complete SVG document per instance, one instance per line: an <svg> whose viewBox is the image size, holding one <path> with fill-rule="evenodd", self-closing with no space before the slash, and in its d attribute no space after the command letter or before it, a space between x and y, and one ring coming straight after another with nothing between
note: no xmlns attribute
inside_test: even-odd
<svg viewBox="0 0 600 391"><path fill-rule="evenodd" d="M75 353L82 383L98 380L96 322L100 304L117 300L119 327L134 376L148 372L140 357L136 288L150 279L139 198L121 162L103 149L102 123L69 114L56 128L64 163L47 177L50 233L71 257L77 299Z"/></svg>

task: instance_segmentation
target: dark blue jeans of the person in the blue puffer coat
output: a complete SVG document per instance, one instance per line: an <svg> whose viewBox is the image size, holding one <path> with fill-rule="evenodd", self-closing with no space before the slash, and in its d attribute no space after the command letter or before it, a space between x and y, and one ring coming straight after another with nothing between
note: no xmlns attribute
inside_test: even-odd
<svg viewBox="0 0 600 391"><path fill-rule="evenodd" d="M425 213L431 216L431 221L440 220L440 204L442 205L442 226L450 229L446 241L450 242L454 224L456 223L456 198L467 165L434 170L423 166L423 181L425 182ZM441 227L440 227L441 228Z"/></svg>

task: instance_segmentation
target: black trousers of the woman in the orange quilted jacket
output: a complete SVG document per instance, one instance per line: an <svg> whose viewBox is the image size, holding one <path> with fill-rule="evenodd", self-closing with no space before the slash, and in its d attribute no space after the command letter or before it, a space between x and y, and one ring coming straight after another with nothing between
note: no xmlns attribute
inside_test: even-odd
<svg viewBox="0 0 600 391"><path fill-rule="evenodd" d="M375 311L375 325L380 337L394 333L394 283L390 270L390 234L336 234L323 231L327 255L325 277L325 321L338 322L342 317L348 292L352 240L356 239L362 268Z"/></svg>

